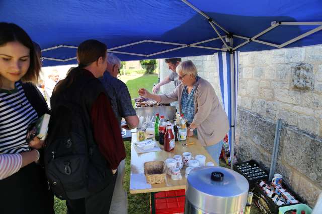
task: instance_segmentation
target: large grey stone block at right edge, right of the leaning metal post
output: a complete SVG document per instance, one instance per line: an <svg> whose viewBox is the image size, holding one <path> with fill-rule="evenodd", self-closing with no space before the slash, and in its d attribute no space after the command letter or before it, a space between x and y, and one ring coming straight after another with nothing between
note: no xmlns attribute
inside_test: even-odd
<svg viewBox="0 0 322 214"><path fill-rule="evenodd" d="M283 128L280 155L291 167L322 185L322 141L297 129Z"/></svg>

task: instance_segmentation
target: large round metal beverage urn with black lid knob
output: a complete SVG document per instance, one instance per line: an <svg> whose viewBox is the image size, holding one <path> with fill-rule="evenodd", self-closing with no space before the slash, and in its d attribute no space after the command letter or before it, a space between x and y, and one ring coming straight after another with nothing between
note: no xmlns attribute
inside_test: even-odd
<svg viewBox="0 0 322 214"><path fill-rule="evenodd" d="M185 214L242 214L249 184L241 174L227 168L194 168L187 178Z"/></svg>

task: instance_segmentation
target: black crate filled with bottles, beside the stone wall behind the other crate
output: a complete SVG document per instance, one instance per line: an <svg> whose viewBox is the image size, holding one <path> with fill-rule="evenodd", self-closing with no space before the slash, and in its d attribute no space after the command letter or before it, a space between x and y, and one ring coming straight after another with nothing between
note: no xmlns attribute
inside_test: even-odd
<svg viewBox="0 0 322 214"><path fill-rule="evenodd" d="M250 185L250 189L255 187L259 180L267 180L268 172L255 160L249 160L233 165L234 171L243 175Z"/></svg>

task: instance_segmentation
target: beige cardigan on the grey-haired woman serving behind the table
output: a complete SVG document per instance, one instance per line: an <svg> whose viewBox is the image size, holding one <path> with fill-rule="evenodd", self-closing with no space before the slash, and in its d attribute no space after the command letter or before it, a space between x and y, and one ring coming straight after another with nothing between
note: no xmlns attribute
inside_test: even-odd
<svg viewBox="0 0 322 214"><path fill-rule="evenodd" d="M161 103L171 103L179 101L179 111L181 109L181 98L184 85L180 84L177 88L161 96ZM195 116L193 123L197 125L198 140L203 146L210 146L220 142L229 131L228 117L219 103L219 99L211 84L200 78L195 83L194 105Z"/></svg>

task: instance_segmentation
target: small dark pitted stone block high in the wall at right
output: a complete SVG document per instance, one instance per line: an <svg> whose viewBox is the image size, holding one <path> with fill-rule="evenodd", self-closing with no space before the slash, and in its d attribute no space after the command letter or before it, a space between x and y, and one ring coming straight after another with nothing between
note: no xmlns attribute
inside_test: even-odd
<svg viewBox="0 0 322 214"><path fill-rule="evenodd" d="M308 63L296 64L292 67L293 87L299 90L312 91L314 89L313 66Z"/></svg>

